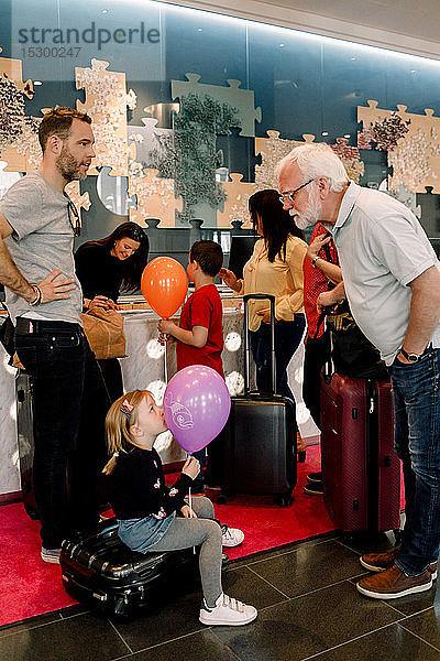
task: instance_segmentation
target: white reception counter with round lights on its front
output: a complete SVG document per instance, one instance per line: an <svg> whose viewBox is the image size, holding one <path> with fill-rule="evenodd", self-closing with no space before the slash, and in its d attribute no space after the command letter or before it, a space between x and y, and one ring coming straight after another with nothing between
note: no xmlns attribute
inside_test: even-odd
<svg viewBox="0 0 440 661"><path fill-rule="evenodd" d="M124 390L148 389L156 401L162 403L167 379L176 371L174 345L167 347L165 356L165 347L157 342L157 315L152 311L142 310L141 304L138 303L127 303L124 307L121 314L124 317L127 357L120 358ZM244 386L244 353L243 313L241 303L237 299L223 301L223 335L224 376L230 393L238 394L243 391ZM21 489L14 389L16 370L8 365L8 358L0 345L0 502L13 499ZM290 361L288 378L297 401L297 418L301 434L304 437L316 437L319 432L301 397L302 360L304 344L301 343ZM168 432L157 438L156 447L164 464L178 462L185 456Z"/></svg>

